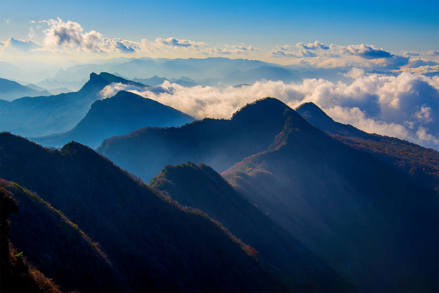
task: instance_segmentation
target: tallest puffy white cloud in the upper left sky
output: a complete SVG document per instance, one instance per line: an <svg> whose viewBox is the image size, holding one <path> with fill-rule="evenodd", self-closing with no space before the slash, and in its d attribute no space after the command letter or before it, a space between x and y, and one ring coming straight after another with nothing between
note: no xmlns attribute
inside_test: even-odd
<svg viewBox="0 0 439 293"><path fill-rule="evenodd" d="M67 46L80 51L100 52L102 35L94 30L83 33L84 29L78 22L67 20L42 20L47 23L48 29L44 30L44 44L48 47Z"/></svg>

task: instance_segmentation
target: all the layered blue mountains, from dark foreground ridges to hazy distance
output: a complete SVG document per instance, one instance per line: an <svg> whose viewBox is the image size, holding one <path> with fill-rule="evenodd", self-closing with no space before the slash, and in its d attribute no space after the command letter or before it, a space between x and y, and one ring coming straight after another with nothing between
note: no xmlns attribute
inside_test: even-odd
<svg viewBox="0 0 439 293"><path fill-rule="evenodd" d="M148 62L301 74L229 59L101 65L125 61L132 74ZM0 134L2 291L439 291L437 151L313 103L267 97L193 121L130 92L101 99L112 82L146 87L117 72L1 100L2 130L60 133L33 138L60 148Z"/></svg>

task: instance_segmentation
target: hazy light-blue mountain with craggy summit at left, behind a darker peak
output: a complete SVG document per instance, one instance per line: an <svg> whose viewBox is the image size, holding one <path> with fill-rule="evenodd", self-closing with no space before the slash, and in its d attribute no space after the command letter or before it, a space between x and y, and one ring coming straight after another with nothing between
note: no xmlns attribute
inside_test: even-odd
<svg viewBox="0 0 439 293"><path fill-rule="evenodd" d="M78 91L49 97L25 97L12 102L0 100L1 130L28 137L62 133L72 129L112 82L144 87L140 83L108 73L90 74Z"/></svg>

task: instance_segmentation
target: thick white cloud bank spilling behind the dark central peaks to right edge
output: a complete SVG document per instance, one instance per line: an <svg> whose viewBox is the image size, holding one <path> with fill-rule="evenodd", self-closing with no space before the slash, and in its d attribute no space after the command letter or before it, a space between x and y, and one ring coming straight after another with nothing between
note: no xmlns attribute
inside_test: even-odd
<svg viewBox="0 0 439 293"><path fill-rule="evenodd" d="M351 84L305 79L291 84L258 81L225 89L186 88L169 81L146 90L111 84L101 94L107 98L128 90L198 118L229 118L240 107L263 97L278 98L292 108L312 101L336 121L439 149L439 78L409 73L398 77L365 75L358 69L352 70L350 77L354 79Z"/></svg>

